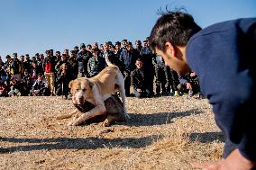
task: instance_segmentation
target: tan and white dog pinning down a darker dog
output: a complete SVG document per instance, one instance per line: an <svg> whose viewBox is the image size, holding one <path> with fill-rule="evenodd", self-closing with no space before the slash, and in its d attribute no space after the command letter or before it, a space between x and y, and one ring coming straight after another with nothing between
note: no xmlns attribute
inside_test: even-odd
<svg viewBox="0 0 256 170"><path fill-rule="evenodd" d="M119 91L123 102L123 112L121 112L121 114L123 114L123 120L128 121L131 119L127 114L125 107L126 96L123 75L119 68L109 61L107 56L105 57L105 61L107 67L105 67L98 75L91 78L80 77L69 82L72 102L77 106L77 109L68 115L59 116L58 119L70 118L75 115L73 121L69 122L69 125L77 126L96 116L105 115L107 112L105 101L117 90ZM78 106L84 107L87 103L93 104L94 107L87 112L81 112L81 110L78 109Z"/></svg>

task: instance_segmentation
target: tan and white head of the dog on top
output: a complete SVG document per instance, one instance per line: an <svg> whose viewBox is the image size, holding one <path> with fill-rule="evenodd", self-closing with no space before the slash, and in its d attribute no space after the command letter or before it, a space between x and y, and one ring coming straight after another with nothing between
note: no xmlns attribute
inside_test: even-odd
<svg viewBox="0 0 256 170"><path fill-rule="evenodd" d="M86 103L87 99L93 98L92 88L93 83L87 78L77 78L69 82L72 101L74 104Z"/></svg>

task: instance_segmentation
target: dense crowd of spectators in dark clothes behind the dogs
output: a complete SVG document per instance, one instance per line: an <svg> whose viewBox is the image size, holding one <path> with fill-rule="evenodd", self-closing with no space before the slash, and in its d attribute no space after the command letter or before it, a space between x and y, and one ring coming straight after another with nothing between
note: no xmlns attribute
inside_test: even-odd
<svg viewBox="0 0 256 170"><path fill-rule="evenodd" d="M195 73L186 76L167 67L164 60L149 47L148 40L97 42L62 53L53 49L36 53L0 57L0 96L69 95L69 82L78 77L96 76L106 67L105 56L123 73L126 96L152 97L160 95L195 96L200 88ZM133 87L133 88L131 88ZM131 89L132 92L131 92Z"/></svg>

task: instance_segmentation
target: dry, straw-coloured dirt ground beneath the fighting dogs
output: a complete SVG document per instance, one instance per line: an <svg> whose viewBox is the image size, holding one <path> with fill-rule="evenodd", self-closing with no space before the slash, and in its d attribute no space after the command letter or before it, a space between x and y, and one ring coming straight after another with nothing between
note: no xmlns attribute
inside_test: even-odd
<svg viewBox="0 0 256 170"><path fill-rule="evenodd" d="M0 169L192 169L221 157L224 136L206 99L127 98L132 120L69 127L61 97L0 98Z"/></svg>

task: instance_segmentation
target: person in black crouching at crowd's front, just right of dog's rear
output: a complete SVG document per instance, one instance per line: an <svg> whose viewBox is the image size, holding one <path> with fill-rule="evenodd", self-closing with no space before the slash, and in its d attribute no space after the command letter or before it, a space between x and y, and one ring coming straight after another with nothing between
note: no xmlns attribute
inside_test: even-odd
<svg viewBox="0 0 256 170"><path fill-rule="evenodd" d="M149 75L143 67L142 58L138 58L135 62L136 68L131 74L131 84L133 86L133 94L138 98L150 97Z"/></svg>

